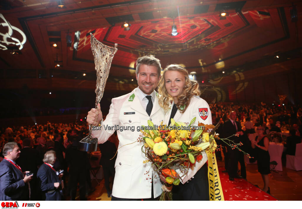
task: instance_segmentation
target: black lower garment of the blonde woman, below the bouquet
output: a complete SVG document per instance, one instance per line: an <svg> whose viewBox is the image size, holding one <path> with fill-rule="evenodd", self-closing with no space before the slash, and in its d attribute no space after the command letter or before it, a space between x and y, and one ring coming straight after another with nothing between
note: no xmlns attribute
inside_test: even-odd
<svg viewBox="0 0 302 209"><path fill-rule="evenodd" d="M180 183L172 188L172 199L181 200L210 200L207 164L204 164L194 175L191 181Z"/></svg>

